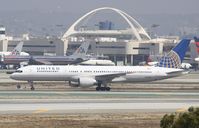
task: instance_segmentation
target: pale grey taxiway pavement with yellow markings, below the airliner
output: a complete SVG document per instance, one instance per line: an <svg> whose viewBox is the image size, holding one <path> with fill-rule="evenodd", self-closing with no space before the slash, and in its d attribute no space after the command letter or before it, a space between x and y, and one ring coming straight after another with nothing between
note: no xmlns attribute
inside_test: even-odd
<svg viewBox="0 0 199 128"><path fill-rule="evenodd" d="M199 106L196 92L3 91L0 97L1 114L182 112Z"/></svg>

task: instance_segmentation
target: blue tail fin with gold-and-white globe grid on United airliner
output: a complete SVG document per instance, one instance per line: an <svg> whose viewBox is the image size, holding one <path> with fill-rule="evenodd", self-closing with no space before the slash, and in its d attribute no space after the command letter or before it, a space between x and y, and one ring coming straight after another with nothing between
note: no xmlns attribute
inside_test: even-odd
<svg viewBox="0 0 199 128"><path fill-rule="evenodd" d="M166 56L160 59L158 66L180 68L190 41L190 39L181 40Z"/></svg>

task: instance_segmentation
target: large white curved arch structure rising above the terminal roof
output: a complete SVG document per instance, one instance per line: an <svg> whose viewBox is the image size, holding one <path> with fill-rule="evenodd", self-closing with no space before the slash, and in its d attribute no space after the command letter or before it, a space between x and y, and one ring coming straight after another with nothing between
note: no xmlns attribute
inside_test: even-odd
<svg viewBox="0 0 199 128"><path fill-rule="evenodd" d="M138 41L142 40L141 34L144 35L147 39L149 39L149 40L151 39L150 36L146 33L146 31L143 29L143 27L133 17L131 17L127 13L125 13L119 9L116 9L116 8L102 7L102 8L97 8L97 9L94 9L94 10L86 13L81 18L79 18L75 23L73 23L71 25L71 27L63 35L63 40L67 39L70 35L77 33L77 31L75 30L75 27L82 20L84 20L86 17L88 17L98 11L101 11L101 10L112 10L112 11L118 13L128 23L128 25L131 28L132 35L135 36Z"/></svg>

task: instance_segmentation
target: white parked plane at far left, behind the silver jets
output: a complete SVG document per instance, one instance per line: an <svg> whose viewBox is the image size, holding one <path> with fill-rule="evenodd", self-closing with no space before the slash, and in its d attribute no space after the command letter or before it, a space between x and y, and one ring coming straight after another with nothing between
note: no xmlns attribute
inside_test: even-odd
<svg viewBox="0 0 199 128"><path fill-rule="evenodd" d="M23 42L20 42L11 52L0 52L0 56L9 56L9 55L29 56L28 53L22 52L22 48L23 48Z"/></svg>

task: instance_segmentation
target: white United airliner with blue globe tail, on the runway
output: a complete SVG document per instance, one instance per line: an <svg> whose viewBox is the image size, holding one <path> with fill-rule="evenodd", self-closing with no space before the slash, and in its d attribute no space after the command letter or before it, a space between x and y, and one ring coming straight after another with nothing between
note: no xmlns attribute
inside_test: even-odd
<svg viewBox="0 0 199 128"><path fill-rule="evenodd" d="M70 86L97 86L97 91L109 91L107 83L155 81L184 74L184 70L179 68L189 43L188 39L182 40L160 59L157 67L35 65L19 68L10 77L28 81L32 90L33 81L69 81Z"/></svg>

